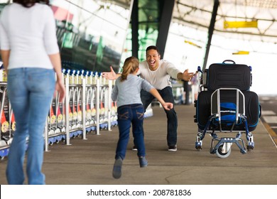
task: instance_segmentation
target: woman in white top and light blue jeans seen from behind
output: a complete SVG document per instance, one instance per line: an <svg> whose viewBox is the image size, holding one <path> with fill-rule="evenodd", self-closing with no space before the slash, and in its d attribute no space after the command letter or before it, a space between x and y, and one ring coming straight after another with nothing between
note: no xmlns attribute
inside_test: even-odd
<svg viewBox="0 0 277 199"><path fill-rule="evenodd" d="M55 89L60 92L60 102L65 96L55 18L49 1L13 0L13 4L5 6L0 18L0 48L16 119L6 177L9 184L24 183L27 150L28 184L45 184L41 172L45 122Z"/></svg>

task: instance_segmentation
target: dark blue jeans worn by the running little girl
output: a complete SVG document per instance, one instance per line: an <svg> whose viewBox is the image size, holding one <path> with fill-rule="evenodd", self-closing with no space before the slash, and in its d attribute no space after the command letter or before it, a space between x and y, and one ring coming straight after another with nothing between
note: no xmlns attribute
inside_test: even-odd
<svg viewBox="0 0 277 199"><path fill-rule="evenodd" d="M131 124L134 143L138 149L138 156L146 156L143 139L144 109L142 104L130 104L118 107L117 114L117 122L119 125L119 141L117 142L115 158L120 157L122 160L125 158Z"/></svg>

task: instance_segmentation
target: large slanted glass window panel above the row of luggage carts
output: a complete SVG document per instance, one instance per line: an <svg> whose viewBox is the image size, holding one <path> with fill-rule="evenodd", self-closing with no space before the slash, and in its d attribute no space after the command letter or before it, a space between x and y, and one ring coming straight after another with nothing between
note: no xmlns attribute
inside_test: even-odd
<svg viewBox="0 0 277 199"><path fill-rule="evenodd" d="M117 1L51 1L63 68L97 72L119 68L131 14Z"/></svg>

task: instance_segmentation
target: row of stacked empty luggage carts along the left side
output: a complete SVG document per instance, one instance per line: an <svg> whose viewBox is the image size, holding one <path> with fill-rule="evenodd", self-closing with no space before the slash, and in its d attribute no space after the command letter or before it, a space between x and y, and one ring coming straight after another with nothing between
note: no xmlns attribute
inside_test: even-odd
<svg viewBox="0 0 277 199"><path fill-rule="evenodd" d="M16 130L13 110L6 94L6 76L3 73L5 72L1 70L1 159L9 154L9 146ZM63 69L63 75L66 97L63 102L59 102L59 93L53 97L45 124L45 151L48 151L49 145L60 141L70 145L70 139L77 136L86 139L87 133L100 134L100 130L111 130L117 125L116 102L111 99L112 80L102 78L97 72L84 70Z"/></svg>

